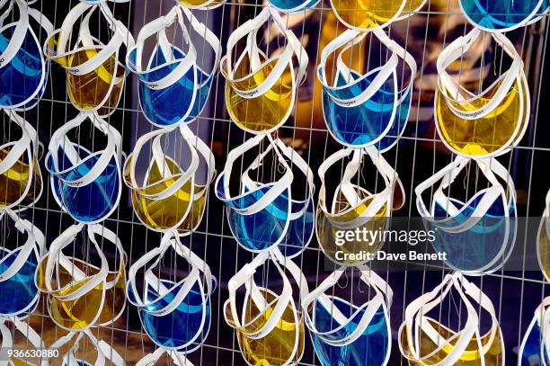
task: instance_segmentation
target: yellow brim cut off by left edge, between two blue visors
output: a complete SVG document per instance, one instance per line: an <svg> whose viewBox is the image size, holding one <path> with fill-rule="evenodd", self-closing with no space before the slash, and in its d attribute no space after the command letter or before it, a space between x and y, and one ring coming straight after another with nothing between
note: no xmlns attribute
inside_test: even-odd
<svg viewBox="0 0 550 366"><path fill-rule="evenodd" d="M4 160L12 147L0 149L0 161ZM3 174L0 174L0 209L13 205L14 202L22 198L23 194L25 194L25 197L20 203L22 206L30 205L35 201L42 190L40 167L36 161L32 169L32 177L29 174L29 161L27 151L25 150L15 164ZM29 182L30 179L31 182ZM25 193L29 184L31 184L31 187Z"/></svg>

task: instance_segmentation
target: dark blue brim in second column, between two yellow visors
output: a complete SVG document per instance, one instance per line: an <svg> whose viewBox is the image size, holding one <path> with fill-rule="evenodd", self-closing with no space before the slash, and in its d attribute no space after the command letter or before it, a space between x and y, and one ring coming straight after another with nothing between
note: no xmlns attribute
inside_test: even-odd
<svg viewBox="0 0 550 366"><path fill-rule="evenodd" d="M83 178L90 172L100 158L100 154L93 154L73 144L80 157L83 159L78 165L73 165L61 148L58 149L58 172L53 165L53 158L49 156L46 166L52 174L53 191L58 196L58 201L63 204L63 209L77 221L95 223L106 219L113 210L116 210L121 192L120 166L117 157L112 156L111 162L105 166L92 183L71 186L64 181L75 181ZM84 160L85 159L85 160Z"/></svg>

